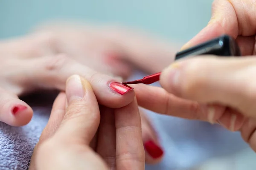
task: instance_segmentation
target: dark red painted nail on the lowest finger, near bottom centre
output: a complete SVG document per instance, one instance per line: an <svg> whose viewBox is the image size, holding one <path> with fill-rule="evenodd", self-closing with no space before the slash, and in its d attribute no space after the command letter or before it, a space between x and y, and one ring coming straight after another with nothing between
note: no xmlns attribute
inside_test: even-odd
<svg viewBox="0 0 256 170"><path fill-rule="evenodd" d="M153 141L145 142L144 147L148 154L154 159L160 158L163 155L163 150Z"/></svg>

